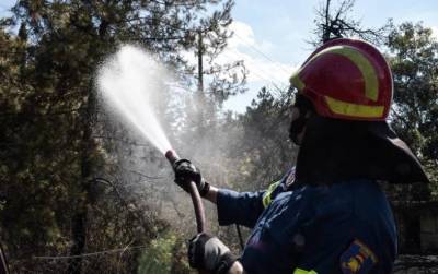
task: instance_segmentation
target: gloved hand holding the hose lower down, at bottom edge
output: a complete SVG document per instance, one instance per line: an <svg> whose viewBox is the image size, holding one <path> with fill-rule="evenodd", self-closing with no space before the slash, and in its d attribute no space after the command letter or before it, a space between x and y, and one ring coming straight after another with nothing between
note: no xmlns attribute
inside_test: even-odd
<svg viewBox="0 0 438 274"><path fill-rule="evenodd" d="M191 239L188 246L188 263L192 267L205 270L212 274L227 273L237 258L217 237L198 234Z"/></svg>

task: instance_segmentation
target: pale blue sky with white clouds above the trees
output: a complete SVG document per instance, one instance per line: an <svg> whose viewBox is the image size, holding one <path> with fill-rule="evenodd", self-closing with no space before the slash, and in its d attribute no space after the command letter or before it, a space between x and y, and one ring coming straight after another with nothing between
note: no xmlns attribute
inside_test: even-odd
<svg viewBox="0 0 438 274"><path fill-rule="evenodd" d="M0 0L0 16L15 0ZM235 0L232 11L234 37L221 60L244 60L249 70L244 94L230 98L226 109L243 112L262 86L288 85L292 72L311 53L307 41L312 37L315 9L323 0ZM336 0L334 0L336 2ZM356 0L351 16L365 27L382 26L388 19L423 22L438 38L436 0Z"/></svg>

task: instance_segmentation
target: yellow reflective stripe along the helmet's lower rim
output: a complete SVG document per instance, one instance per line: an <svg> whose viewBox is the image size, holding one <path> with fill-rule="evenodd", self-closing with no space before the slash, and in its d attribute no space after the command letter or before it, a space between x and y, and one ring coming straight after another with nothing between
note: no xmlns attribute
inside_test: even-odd
<svg viewBox="0 0 438 274"><path fill-rule="evenodd" d="M383 106L356 105L337 100L328 96L325 96L324 98L330 109L337 115L353 116L359 118L380 118L383 116Z"/></svg>

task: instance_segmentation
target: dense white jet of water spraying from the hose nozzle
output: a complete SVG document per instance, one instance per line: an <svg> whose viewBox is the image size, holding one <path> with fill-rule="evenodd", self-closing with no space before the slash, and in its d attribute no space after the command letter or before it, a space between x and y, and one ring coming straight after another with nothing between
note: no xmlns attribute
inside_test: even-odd
<svg viewBox="0 0 438 274"><path fill-rule="evenodd" d="M164 65L135 46L123 46L97 72L97 88L119 112L163 154L171 148L153 111L153 95L166 78Z"/></svg>

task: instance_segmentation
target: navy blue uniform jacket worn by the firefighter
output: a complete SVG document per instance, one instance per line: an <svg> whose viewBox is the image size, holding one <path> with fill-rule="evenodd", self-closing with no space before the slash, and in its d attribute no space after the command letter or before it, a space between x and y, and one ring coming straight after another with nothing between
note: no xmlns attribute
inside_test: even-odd
<svg viewBox="0 0 438 274"><path fill-rule="evenodd" d="M249 274L391 273L396 230L379 186L355 180L288 191L291 172L266 191L218 192L219 224L252 228L240 258L244 270Z"/></svg>

